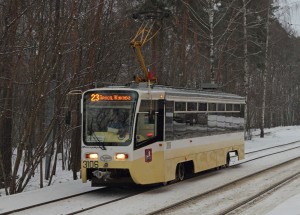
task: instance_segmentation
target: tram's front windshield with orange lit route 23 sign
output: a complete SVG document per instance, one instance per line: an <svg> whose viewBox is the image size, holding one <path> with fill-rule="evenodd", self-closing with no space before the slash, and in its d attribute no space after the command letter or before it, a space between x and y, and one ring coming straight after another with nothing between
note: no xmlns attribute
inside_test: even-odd
<svg viewBox="0 0 300 215"><path fill-rule="evenodd" d="M126 146L132 141L137 93L89 91L83 100L83 141L86 145Z"/></svg>

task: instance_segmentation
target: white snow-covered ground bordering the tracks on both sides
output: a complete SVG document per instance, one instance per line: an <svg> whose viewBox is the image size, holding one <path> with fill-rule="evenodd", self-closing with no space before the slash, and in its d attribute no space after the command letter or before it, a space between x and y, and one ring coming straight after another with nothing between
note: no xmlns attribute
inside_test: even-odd
<svg viewBox="0 0 300 215"><path fill-rule="evenodd" d="M253 132L252 140L246 141L246 152L271 147L273 145L281 145L300 139L300 126L277 127L272 129L266 129L265 132L265 138L259 137L259 130ZM39 174L36 174L36 178L33 178L31 180L25 192L21 194L5 196L5 191L3 189L0 190L0 214L3 211L15 208L16 202L18 203L18 207L21 207L22 205L29 204L31 201L34 201L36 203L39 200L45 198L48 201L50 201L59 197L94 189L90 187L90 184L82 184L80 180L73 181L71 172L62 171L60 168L58 168L57 174L54 177L52 185L49 187L45 187L41 190L39 189L38 175ZM45 182L45 184L47 184L47 182ZM31 198L28 198L28 196L30 196ZM288 195L288 198L285 199L285 201L283 201L277 207L275 207L272 211L270 211L268 215L300 214L299 202L300 192L294 192L292 195Z"/></svg>

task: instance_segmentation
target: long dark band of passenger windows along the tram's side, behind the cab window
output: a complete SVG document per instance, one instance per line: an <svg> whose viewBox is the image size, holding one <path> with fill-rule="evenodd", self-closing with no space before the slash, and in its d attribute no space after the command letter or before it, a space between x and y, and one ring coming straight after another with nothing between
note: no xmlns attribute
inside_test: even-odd
<svg viewBox="0 0 300 215"><path fill-rule="evenodd" d="M178 103L178 102L177 102ZM185 102L181 102L185 104ZM198 111L194 111L194 107ZM182 105L185 107L185 105ZM182 111L174 102L166 102L166 140L194 138L215 134L242 131L244 126L244 106L241 104L187 102L186 111ZM234 111L236 110L240 111ZM180 110L178 110L180 109ZM182 112L180 112L182 111Z"/></svg>

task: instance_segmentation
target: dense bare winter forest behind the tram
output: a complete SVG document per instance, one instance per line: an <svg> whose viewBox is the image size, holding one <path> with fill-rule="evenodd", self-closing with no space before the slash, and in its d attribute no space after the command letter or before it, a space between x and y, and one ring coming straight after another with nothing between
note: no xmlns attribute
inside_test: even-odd
<svg viewBox="0 0 300 215"><path fill-rule="evenodd" d="M142 74L136 11L170 11L142 49L158 84L246 98L251 129L300 124L300 39L275 0L0 0L0 187L22 192L58 154L77 179L80 92ZM276 15L275 15L276 14ZM282 19L281 19L282 20ZM69 92L78 92L78 94ZM71 113L71 124L65 123Z"/></svg>

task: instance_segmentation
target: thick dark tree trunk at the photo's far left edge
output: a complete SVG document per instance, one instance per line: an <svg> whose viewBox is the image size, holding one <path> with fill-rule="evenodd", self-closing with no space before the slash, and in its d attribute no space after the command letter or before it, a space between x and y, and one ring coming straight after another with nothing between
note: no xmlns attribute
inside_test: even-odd
<svg viewBox="0 0 300 215"><path fill-rule="evenodd" d="M17 27L18 27L18 6L16 0L8 3L8 13L3 20L3 34L1 38L1 53L5 53L0 58L0 76L4 77L0 80L0 153L2 154L3 168L5 172L0 171L1 178L4 178L5 184L11 181L11 157L12 157L12 125L13 125L13 82L16 76L16 67L18 65L19 56L12 54L17 41ZM1 77L1 78L2 78ZM1 172L3 175L1 175Z"/></svg>

